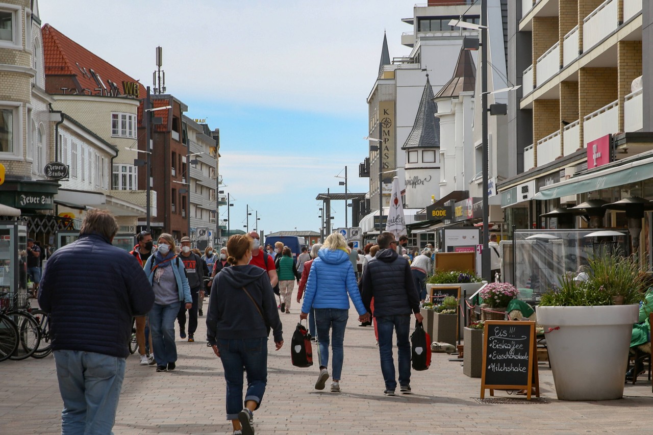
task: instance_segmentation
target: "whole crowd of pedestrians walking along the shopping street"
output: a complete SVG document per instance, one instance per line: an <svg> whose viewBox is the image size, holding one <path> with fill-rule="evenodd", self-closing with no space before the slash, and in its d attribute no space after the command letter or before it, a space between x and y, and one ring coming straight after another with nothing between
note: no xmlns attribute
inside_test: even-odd
<svg viewBox="0 0 653 435"><path fill-rule="evenodd" d="M366 246L364 257L351 243L347 246L342 234L333 233L323 245L311 246L310 253L302 248L295 259L283 244L264 250L259 234L251 232L231 236L219 253L208 247L202 254L188 237L177 246L171 234L160 234L155 243L151 233L142 231L127 253L111 246L117 231L110 212L89 211L80 238L52 255L40 280L39 303L51 314L64 402L62 434L110 433L132 322L138 363L155 365L156 372L175 370L175 320L180 338L195 341L205 296L206 340L223 366L227 419L234 434L254 434L253 413L267 387L268 337L272 330L275 348L281 349L279 313L290 314L295 283L300 321L308 319L317 344L315 389L325 389L332 378L330 391L341 391L351 302L361 325L370 325L374 317L383 393L394 395L397 387L411 392L408 334L411 315L422 321L420 289L428 263L424 266L420 257L428 258L428 252L415 257L411 268L397 252L402 239L397 242L391 233Z"/></svg>

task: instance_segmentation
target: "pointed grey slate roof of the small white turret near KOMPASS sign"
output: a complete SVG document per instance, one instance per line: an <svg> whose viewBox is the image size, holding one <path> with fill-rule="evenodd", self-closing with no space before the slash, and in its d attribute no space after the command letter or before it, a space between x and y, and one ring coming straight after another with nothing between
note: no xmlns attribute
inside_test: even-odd
<svg viewBox="0 0 653 435"><path fill-rule="evenodd" d="M402 150L440 146L440 120L435 116L437 112L438 105L433 101L433 89L428 80L428 74L426 74L426 85L424 85L413 129L406 138Z"/></svg>

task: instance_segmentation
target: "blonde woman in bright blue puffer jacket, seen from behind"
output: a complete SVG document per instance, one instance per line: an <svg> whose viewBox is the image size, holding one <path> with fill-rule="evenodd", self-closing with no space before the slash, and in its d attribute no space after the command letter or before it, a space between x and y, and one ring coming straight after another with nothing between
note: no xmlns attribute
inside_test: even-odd
<svg viewBox="0 0 653 435"><path fill-rule="evenodd" d="M315 310L315 327L319 337L317 355L320 363L320 374L315 383L316 390L323 390L328 379L329 330L332 329L331 391L340 393L340 374L344 357L343 341L349 318L349 298L359 314L358 321L368 321L370 314L360 298L354 268L349 261L347 242L342 234L333 233L327 237L322 249L317 252L317 258L313 260L300 314L300 319L303 320L308 317L311 308Z"/></svg>

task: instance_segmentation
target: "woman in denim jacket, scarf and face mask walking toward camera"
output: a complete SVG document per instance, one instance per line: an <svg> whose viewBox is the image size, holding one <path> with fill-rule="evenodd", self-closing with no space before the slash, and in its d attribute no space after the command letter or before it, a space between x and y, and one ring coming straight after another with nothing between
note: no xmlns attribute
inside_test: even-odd
<svg viewBox="0 0 653 435"><path fill-rule="evenodd" d="M193 306L191 287L183 271L183 262L175 255L175 248L172 235L161 234L156 253L143 266L154 291L154 306L149 318L152 344L157 349L154 357L157 372L174 370L176 367L174 319L181 304L185 304L187 310Z"/></svg>

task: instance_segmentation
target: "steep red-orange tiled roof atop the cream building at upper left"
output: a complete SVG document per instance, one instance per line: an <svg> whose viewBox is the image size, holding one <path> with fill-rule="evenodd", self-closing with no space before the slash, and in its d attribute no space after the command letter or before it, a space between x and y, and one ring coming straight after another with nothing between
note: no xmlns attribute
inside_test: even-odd
<svg viewBox="0 0 653 435"><path fill-rule="evenodd" d="M120 71L104 59L86 50L74 40L70 39L50 24L46 24L41 29L43 38L43 55L46 74L46 87L50 93L63 93L57 87L59 80L50 80L52 86L48 87L48 76L71 76L72 80L69 87L74 86L78 93L91 93L100 95L97 88L103 88L93 77L99 76L98 80L104 83L104 88L111 90L110 82L117 86L118 95L123 95L122 82L136 82L125 72ZM91 72L91 70L93 72ZM54 77L52 77L54 79ZM76 83L75 83L76 82ZM68 82L67 82L68 83ZM88 91L84 91L88 89ZM70 92L70 91L69 91ZM103 93L102 95L106 95ZM138 98L144 98L146 89L138 83Z"/></svg>

